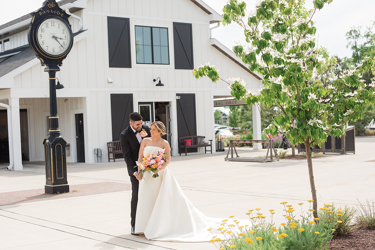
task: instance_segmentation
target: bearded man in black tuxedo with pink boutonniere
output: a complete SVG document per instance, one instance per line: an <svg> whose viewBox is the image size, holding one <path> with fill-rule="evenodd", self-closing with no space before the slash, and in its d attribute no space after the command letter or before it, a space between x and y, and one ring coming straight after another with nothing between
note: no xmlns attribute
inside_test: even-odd
<svg viewBox="0 0 375 250"><path fill-rule="evenodd" d="M147 135L145 137L150 137L150 129L147 125L142 125L142 116L138 112L133 112L129 115L130 125L120 134L120 144L122 155L125 159L127 166L127 172L130 176L130 181L132 183L132 201L130 202L130 217L132 225L132 235L135 234L135 213L137 211L138 203L138 186L139 180L141 180L142 175L138 174L138 168L135 161L138 160L139 146L142 142L142 136L140 134L141 130L144 129Z"/></svg>

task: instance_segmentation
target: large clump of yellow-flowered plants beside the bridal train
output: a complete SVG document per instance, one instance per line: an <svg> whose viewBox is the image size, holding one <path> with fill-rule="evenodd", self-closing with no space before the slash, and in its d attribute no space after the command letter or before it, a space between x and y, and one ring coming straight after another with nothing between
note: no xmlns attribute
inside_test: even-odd
<svg viewBox="0 0 375 250"><path fill-rule="evenodd" d="M311 204L311 200L309 200ZM304 214L301 206L300 215L294 215L294 209L291 205L285 205L287 202L281 202L284 205L283 215L285 223L281 223L278 228L273 223L273 214L275 210L270 209L271 222L266 222L267 216L260 213L260 208L249 210L249 219L252 225L240 225L237 220L228 222L223 220L219 235L213 234L210 243L216 244L219 250L319 250L326 249L324 244L332 239L332 230L337 227L337 222L315 223L312 212L307 210ZM234 216L229 216L233 219ZM315 218L319 220L318 218ZM208 229L211 231L211 229ZM218 237L222 237L218 238Z"/></svg>

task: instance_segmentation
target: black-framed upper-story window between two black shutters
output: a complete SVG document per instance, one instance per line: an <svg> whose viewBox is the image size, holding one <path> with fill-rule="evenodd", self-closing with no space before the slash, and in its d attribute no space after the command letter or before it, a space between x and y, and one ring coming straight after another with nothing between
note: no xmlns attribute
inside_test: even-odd
<svg viewBox="0 0 375 250"><path fill-rule="evenodd" d="M136 63L169 64L168 28L135 26Z"/></svg>

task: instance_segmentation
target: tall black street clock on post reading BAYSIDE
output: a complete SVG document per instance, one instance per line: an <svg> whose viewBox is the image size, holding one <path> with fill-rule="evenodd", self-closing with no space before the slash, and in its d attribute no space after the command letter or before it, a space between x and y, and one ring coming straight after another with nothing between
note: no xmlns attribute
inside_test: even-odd
<svg viewBox="0 0 375 250"><path fill-rule="evenodd" d="M58 128L56 100L56 72L73 45L69 16L55 0L44 1L42 7L31 13L28 43L39 58L49 79L49 130L44 139L45 193L69 192L66 176L66 141Z"/></svg>

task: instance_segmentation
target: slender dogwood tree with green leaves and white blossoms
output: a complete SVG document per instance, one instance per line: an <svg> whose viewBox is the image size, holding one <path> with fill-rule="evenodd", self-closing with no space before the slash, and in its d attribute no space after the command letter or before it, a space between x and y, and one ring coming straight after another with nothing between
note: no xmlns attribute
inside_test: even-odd
<svg viewBox="0 0 375 250"><path fill-rule="evenodd" d="M341 137L346 122L362 118L364 105L375 102L375 83L361 79L373 65L368 57L339 76L320 80L318 72L324 62L318 56L312 18L331 2L314 0L314 9L308 11L301 7L303 0L258 0L255 10L247 13L245 2L229 0L222 19L223 25L236 22L244 29L248 44L246 48L237 44L233 51L252 72L263 76L260 94L247 91L243 80L229 78L231 95L248 105L263 102L263 106L278 107L281 112L267 111L273 124L264 132L272 136L284 133L292 144L305 144L315 217L318 207L311 147L321 146L329 135ZM209 64L194 69L193 75L196 79L207 76L212 82L222 79Z"/></svg>

